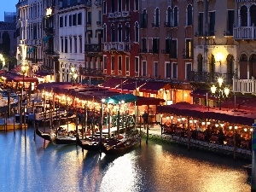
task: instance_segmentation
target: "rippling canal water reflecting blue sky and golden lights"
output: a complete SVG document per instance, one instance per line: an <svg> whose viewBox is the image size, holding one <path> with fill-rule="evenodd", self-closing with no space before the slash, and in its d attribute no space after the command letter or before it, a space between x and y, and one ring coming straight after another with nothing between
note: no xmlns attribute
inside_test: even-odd
<svg viewBox="0 0 256 192"><path fill-rule="evenodd" d="M247 192L248 162L142 140L122 156L34 140L33 129L0 132L0 191Z"/></svg>

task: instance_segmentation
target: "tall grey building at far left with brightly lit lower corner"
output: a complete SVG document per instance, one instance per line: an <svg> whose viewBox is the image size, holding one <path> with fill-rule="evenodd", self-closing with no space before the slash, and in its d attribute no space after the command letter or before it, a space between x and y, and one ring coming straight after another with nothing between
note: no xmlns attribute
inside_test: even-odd
<svg viewBox="0 0 256 192"><path fill-rule="evenodd" d="M17 20L17 60L18 64L29 66L28 75L43 65L44 3L42 0L20 0L16 4Z"/></svg>

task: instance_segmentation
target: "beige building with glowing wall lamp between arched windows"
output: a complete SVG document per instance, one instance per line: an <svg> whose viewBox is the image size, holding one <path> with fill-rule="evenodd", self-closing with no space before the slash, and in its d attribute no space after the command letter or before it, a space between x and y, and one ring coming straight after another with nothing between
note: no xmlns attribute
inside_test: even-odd
<svg viewBox="0 0 256 192"><path fill-rule="evenodd" d="M190 80L214 83L222 76L225 84L231 84L237 70L235 2L195 1L194 13L194 66Z"/></svg>

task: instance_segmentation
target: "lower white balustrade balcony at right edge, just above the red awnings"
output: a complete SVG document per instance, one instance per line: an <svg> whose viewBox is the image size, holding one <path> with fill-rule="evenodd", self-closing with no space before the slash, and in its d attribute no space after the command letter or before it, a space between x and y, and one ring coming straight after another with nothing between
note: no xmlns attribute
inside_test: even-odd
<svg viewBox="0 0 256 192"><path fill-rule="evenodd" d="M256 79L233 79L233 92L255 94Z"/></svg>

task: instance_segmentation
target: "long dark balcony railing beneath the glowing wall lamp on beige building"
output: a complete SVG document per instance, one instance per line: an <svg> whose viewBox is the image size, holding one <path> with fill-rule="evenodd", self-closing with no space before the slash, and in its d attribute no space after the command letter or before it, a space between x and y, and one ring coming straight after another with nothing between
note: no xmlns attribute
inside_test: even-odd
<svg viewBox="0 0 256 192"><path fill-rule="evenodd" d="M189 72L188 81L196 83L217 83L218 77L224 78L224 84L232 84L235 73L209 73L209 72Z"/></svg>

